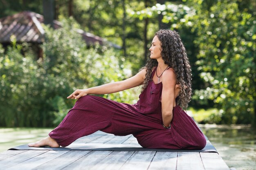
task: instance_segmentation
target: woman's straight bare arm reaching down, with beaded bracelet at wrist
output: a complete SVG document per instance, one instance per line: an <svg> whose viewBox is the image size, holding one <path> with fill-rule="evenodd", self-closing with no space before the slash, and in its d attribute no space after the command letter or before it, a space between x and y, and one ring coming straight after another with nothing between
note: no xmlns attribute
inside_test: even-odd
<svg viewBox="0 0 256 170"><path fill-rule="evenodd" d="M166 70L162 75L162 119L164 126L168 127L173 119L173 107L176 105L176 74L172 68ZM179 90L179 89L178 89Z"/></svg>

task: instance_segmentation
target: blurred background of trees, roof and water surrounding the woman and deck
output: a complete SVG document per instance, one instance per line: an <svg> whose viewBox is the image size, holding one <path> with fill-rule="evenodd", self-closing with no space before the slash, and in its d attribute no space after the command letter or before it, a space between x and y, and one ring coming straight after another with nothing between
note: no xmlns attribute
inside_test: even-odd
<svg viewBox="0 0 256 170"><path fill-rule="evenodd" d="M144 66L159 29L192 66L187 108L229 167L256 167L255 0L0 0L0 151L57 126L77 88ZM139 88L102 95L134 104Z"/></svg>

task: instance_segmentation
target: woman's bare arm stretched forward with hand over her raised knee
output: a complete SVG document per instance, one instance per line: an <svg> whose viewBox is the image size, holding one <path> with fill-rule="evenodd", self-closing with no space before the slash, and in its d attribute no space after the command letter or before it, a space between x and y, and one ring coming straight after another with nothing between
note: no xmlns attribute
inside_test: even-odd
<svg viewBox="0 0 256 170"><path fill-rule="evenodd" d="M102 94L110 94L110 93L116 93L119 91L124 91L126 89L133 88L143 84L145 75L146 75L146 69L143 69L136 75L120 82L112 82L112 83L108 83L108 84L104 84L104 85L96 86L92 88L87 88L87 89L77 89L67 98L79 99L80 97L89 95L89 94L102 95Z"/></svg>

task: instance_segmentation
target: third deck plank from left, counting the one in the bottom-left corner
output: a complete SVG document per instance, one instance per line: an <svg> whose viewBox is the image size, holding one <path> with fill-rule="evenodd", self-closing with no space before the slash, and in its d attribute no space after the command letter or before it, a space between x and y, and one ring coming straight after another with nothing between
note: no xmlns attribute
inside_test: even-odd
<svg viewBox="0 0 256 170"><path fill-rule="evenodd" d="M84 155L87 155L90 150L71 150L55 159L52 159L51 161L48 161L47 163L44 163L36 168L35 170L60 170L62 168L65 168L66 166L70 165L72 162L76 161L77 159L83 157Z"/></svg>

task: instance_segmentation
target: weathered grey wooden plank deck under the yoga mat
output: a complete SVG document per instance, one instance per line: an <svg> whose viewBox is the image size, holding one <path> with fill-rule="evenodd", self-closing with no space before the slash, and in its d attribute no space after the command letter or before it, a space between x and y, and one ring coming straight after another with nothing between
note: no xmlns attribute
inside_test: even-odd
<svg viewBox="0 0 256 170"><path fill-rule="evenodd" d="M78 139L83 144L137 144L132 135L96 132ZM7 150L0 170L229 170L216 152Z"/></svg>

